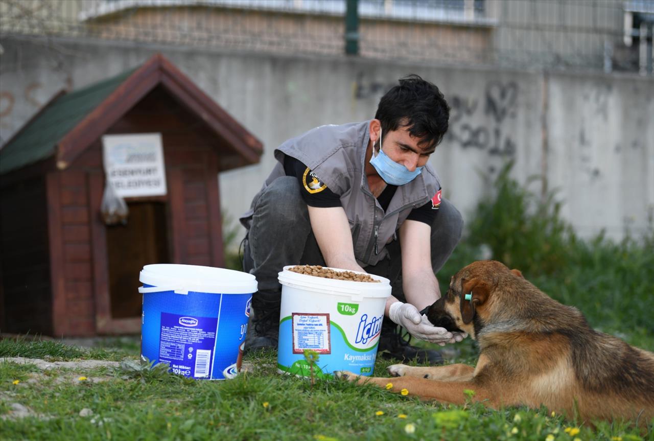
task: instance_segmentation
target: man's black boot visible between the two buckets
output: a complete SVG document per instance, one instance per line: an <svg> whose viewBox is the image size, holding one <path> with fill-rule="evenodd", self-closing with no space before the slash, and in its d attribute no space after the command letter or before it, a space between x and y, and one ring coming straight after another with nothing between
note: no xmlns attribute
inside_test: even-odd
<svg viewBox="0 0 654 441"><path fill-rule="evenodd" d="M257 291L252 295L252 313L245 338L245 351L277 349L281 292Z"/></svg>

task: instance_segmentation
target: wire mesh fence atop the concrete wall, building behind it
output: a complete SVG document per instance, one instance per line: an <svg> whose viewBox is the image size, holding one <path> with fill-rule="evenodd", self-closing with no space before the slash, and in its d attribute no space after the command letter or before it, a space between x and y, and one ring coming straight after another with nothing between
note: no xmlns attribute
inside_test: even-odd
<svg viewBox="0 0 654 441"><path fill-rule="evenodd" d="M0 35L344 54L346 1L0 0ZM651 0L358 0L358 53L651 75Z"/></svg>

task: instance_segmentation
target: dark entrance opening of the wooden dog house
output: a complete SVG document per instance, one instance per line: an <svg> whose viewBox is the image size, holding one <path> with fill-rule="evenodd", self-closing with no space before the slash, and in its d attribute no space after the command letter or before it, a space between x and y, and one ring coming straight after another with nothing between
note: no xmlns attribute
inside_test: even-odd
<svg viewBox="0 0 654 441"><path fill-rule="evenodd" d="M107 227L109 298L114 319L141 315L139 272L144 265L168 263L166 205L128 203L126 225Z"/></svg>

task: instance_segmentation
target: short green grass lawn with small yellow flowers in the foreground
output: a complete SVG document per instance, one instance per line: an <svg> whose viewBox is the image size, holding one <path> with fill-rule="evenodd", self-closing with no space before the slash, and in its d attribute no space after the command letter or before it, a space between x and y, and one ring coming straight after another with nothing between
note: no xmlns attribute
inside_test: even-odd
<svg viewBox="0 0 654 441"><path fill-rule="evenodd" d="M470 340L453 362L473 363ZM2 340L0 356L48 361L136 362L133 347L80 349L60 342ZM336 379L277 373L273 352L246 355L253 372L226 381L196 381L160 370L52 368L0 363L2 440L644 440L625 424L597 429L547 410L422 402ZM375 376L391 361L377 360ZM389 379L392 381L392 379ZM14 403L27 417L7 417Z"/></svg>

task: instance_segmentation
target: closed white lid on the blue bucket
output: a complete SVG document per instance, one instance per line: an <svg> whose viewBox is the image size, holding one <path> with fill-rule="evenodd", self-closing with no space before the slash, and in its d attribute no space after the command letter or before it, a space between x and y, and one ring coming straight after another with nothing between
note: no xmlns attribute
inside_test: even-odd
<svg viewBox="0 0 654 441"><path fill-rule="evenodd" d="M139 275L141 283L162 287L166 291L213 292L216 294L247 294L255 292L254 275L213 266L152 264Z"/></svg>

